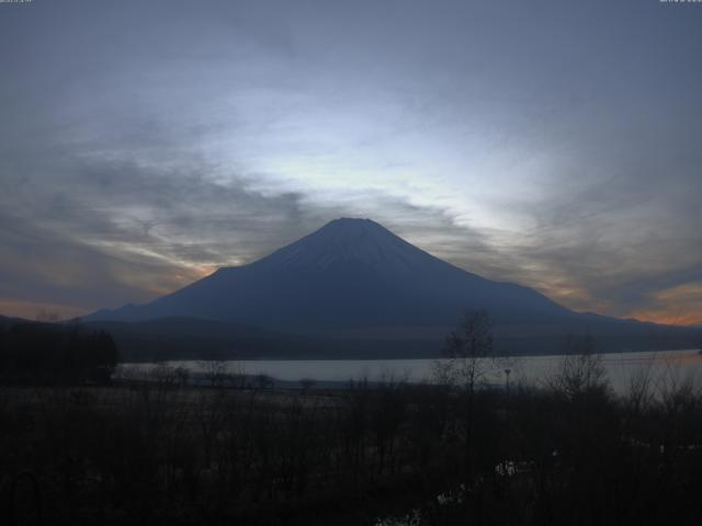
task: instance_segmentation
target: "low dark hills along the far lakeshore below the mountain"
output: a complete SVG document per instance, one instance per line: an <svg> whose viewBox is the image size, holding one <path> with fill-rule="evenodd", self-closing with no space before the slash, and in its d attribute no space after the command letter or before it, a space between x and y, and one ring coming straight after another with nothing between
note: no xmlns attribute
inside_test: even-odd
<svg viewBox="0 0 702 526"><path fill-rule="evenodd" d="M41 324L20 318L0 317L0 329L18 323ZM70 322L72 323L72 322ZM58 324L70 324L58 323ZM364 359L420 358L441 356L444 334L422 338L324 338L284 334L250 325L196 318L159 318L139 322L87 321L88 330L103 330L114 340L123 361L155 362L163 359ZM564 351L568 333L581 334L578 325L551 332L534 327L532 333L512 328L495 330L499 353L529 355L556 354ZM623 350L655 351L697 348L694 331L660 325L636 325L638 331L620 333L613 325L598 327L596 340L600 352ZM672 329L670 331L669 329ZM592 333L592 331L590 331Z"/></svg>

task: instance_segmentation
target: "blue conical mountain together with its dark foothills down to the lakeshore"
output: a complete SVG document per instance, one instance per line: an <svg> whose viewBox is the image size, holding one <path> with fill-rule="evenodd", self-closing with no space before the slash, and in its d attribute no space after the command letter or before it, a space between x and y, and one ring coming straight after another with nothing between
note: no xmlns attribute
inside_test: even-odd
<svg viewBox="0 0 702 526"><path fill-rule="evenodd" d="M574 312L531 288L453 266L369 219L333 220L259 261L84 321L113 322L117 340L134 345L174 339L163 345L188 353L200 345L247 355L422 355L435 354L475 309L490 313L506 352L553 353L566 334L585 332L603 351L691 345L691 329Z"/></svg>

